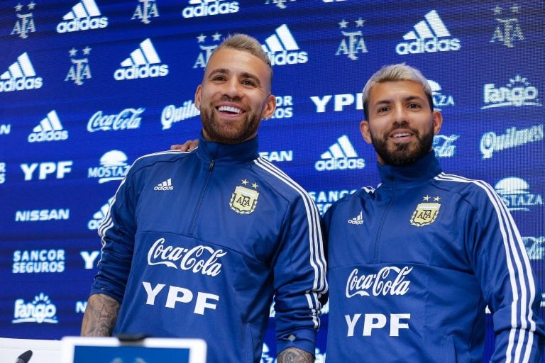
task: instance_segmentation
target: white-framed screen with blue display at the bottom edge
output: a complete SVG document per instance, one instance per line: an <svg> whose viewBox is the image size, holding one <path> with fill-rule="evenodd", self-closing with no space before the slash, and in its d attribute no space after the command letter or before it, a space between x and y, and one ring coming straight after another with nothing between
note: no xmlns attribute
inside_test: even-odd
<svg viewBox="0 0 545 363"><path fill-rule="evenodd" d="M205 363L206 343L198 339L63 337L61 363Z"/></svg>

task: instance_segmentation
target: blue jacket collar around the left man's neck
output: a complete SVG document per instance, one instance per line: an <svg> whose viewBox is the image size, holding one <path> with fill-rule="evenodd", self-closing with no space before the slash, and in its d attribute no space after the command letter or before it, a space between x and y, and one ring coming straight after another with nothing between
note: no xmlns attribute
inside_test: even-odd
<svg viewBox="0 0 545 363"><path fill-rule="evenodd" d="M240 144L226 145L207 141L201 131L196 152L197 156L207 162L214 160L226 164L244 164L258 157L258 137Z"/></svg>

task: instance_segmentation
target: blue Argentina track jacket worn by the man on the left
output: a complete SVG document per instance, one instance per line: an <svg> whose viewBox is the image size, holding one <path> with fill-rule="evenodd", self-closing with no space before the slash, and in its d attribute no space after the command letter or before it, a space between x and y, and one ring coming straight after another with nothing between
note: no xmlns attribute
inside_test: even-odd
<svg viewBox="0 0 545 363"><path fill-rule="evenodd" d="M314 354L327 291L319 213L258 157L258 140L199 140L133 163L99 228L91 294L121 303L115 333L198 337L207 362L260 362L275 296L277 350Z"/></svg>

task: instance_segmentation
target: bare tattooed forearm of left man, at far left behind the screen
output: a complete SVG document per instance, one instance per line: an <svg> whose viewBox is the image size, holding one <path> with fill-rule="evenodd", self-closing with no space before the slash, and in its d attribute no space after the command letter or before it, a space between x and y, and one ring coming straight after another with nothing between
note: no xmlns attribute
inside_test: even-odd
<svg viewBox="0 0 545 363"><path fill-rule="evenodd" d="M119 303L104 294L89 297L83 315L81 335L87 337L109 337L116 325Z"/></svg>

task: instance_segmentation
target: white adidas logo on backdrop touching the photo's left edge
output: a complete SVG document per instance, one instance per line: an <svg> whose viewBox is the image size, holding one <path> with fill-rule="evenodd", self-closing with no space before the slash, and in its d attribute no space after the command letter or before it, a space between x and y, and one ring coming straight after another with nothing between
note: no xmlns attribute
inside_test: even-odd
<svg viewBox="0 0 545 363"><path fill-rule="evenodd" d="M27 52L19 55L16 62L0 75L0 92L39 89L42 84L43 79L42 77L36 77L36 72Z"/></svg>

